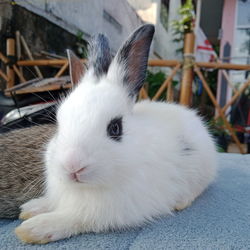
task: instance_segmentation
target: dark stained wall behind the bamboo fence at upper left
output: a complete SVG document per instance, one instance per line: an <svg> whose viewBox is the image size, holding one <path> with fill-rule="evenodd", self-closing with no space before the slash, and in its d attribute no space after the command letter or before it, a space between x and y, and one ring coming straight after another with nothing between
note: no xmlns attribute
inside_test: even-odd
<svg viewBox="0 0 250 250"><path fill-rule="evenodd" d="M66 57L66 49L78 52L78 44L86 46L86 42L79 39L61 28L48 21L42 16L36 15L20 5L12 5L5 1L0 4L0 51L6 55L6 40L9 37L15 37L15 32L20 31L25 38L28 47L32 51L35 59L44 58L41 51L57 54ZM27 59L27 54L23 47L21 49L21 58ZM79 56L82 56L78 53ZM5 71L6 67L0 63L0 68ZM45 77L55 75L58 68L40 67ZM33 67L24 67L24 77L26 79L34 78L36 72ZM18 78L16 77L16 82ZM5 80L0 77L0 89L5 88Z"/></svg>

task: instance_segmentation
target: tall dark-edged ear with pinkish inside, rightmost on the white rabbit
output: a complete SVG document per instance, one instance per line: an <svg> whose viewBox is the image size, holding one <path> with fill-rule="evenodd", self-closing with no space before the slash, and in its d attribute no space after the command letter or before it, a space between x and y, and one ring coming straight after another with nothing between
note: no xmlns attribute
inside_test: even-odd
<svg viewBox="0 0 250 250"><path fill-rule="evenodd" d="M123 84L129 95L136 96L146 78L148 56L155 28L146 24L138 28L125 42L116 55L116 62L122 67Z"/></svg>

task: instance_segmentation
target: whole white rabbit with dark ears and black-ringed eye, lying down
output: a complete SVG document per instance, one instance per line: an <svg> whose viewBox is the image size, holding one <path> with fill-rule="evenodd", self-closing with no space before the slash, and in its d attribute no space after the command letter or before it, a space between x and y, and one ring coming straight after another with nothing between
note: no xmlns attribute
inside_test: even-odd
<svg viewBox="0 0 250 250"><path fill-rule="evenodd" d="M153 25L137 29L113 61L98 35L83 77L82 63L68 53L79 84L58 109L45 154L46 194L21 207L20 218L29 218L16 228L21 240L142 225L189 206L214 180L215 146L194 111L135 103L153 34Z"/></svg>

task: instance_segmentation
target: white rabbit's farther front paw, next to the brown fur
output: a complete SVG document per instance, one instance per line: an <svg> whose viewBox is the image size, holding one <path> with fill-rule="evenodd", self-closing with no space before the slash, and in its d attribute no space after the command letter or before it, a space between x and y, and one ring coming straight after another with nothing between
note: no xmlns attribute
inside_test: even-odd
<svg viewBox="0 0 250 250"><path fill-rule="evenodd" d="M21 207L19 219L27 220L35 215L49 211L49 201L46 197L32 199L24 203Z"/></svg>

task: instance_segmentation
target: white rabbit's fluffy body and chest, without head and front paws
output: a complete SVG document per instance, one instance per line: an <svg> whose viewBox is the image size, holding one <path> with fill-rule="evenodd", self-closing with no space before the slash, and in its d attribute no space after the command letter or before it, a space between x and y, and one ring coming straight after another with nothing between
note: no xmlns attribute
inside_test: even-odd
<svg viewBox="0 0 250 250"><path fill-rule="evenodd" d="M65 176L55 175L55 169L47 170L51 197L58 197L51 198L53 207L60 211L65 204L79 204L70 207L70 213L76 215L71 224L80 222L79 232L136 226L183 209L215 177L214 145L193 111L143 101L134 106L124 123L129 129L124 128L121 151L111 155L109 148L103 148L110 153L111 162L106 167L114 175L108 183L97 188L72 185L71 180L62 181Z"/></svg>

